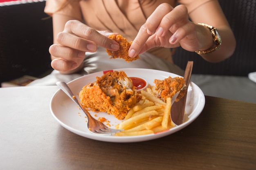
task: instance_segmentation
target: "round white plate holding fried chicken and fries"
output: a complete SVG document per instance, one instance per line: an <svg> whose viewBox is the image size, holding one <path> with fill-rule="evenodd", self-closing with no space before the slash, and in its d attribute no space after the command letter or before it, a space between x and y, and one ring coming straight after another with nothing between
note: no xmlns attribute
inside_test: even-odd
<svg viewBox="0 0 256 170"><path fill-rule="evenodd" d="M126 69L116 69L115 71L124 71L127 76L130 77L141 77L144 78L149 84L154 85L154 79L165 79L169 76L177 77L178 75L173 73L168 73L165 71L151 70L151 69L138 69L138 68L126 68ZM73 91L74 95L79 98L79 92L86 84L96 81L96 77L101 77L103 71L92 73L90 75L85 75L79 77L78 79L69 82L68 85ZM149 135L140 135L140 136L131 136L131 137L117 137L111 135L101 135L94 134L90 132L87 128L87 118L79 110L79 108L72 102L72 100L63 93L63 91L58 90L52 97L50 102L50 109L53 117L67 130L74 132L77 135L87 137L90 139L95 139L99 141L109 141L109 142L138 142L138 141L147 141L151 139L157 139L170 135L182 128L191 124L197 117L200 115L204 108L205 97L201 89L195 85L193 82L189 85L189 90L186 100L186 117L189 119L183 124L171 128L165 132L160 132L157 134ZM109 122L112 128L116 124L119 124L121 121L117 120L113 115L108 115L106 113L95 113L90 112L93 117L98 119L99 117L105 117ZM97 114L97 115L95 115Z"/></svg>

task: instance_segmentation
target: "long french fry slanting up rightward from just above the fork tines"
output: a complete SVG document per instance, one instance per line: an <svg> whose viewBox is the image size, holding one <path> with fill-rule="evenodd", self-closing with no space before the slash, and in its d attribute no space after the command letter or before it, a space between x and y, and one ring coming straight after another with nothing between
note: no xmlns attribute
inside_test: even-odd
<svg viewBox="0 0 256 170"><path fill-rule="evenodd" d="M156 110L152 110L146 113L142 113L138 116L135 117L131 117L130 119L127 119L126 121L121 122L121 124L119 124L119 129L128 129L127 127L130 126L131 124L136 124L139 123L141 121L144 121L145 119L148 119L148 117L150 116L154 116L157 115L158 112Z"/></svg>

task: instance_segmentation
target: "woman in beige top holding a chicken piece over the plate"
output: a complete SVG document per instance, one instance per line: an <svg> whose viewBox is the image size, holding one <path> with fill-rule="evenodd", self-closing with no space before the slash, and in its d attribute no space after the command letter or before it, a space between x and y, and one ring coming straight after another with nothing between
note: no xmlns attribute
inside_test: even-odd
<svg viewBox="0 0 256 170"><path fill-rule="evenodd" d="M51 65L61 74L139 67L182 75L170 48L182 46L209 62L220 62L236 46L218 0L47 0L45 12L53 19ZM221 45L213 41L211 26L217 28ZM108 38L112 33L133 41L129 56L139 54L141 59L110 60L106 49L119 49Z"/></svg>

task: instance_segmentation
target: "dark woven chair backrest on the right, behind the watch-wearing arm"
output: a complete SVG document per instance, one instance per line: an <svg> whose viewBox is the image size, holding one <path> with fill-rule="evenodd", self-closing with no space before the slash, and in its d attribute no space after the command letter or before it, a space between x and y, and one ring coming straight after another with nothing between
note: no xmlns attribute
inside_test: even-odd
<svg viewBox="0 0 256 170"><path fill-rule="evenodd" d="M186 67L188 60L193 60L195 74L247 76L256 71L256 1L219 2L236 37L234 54L223 62L209 63L196 53L177 48L173 60L182 68Z"/></svg>

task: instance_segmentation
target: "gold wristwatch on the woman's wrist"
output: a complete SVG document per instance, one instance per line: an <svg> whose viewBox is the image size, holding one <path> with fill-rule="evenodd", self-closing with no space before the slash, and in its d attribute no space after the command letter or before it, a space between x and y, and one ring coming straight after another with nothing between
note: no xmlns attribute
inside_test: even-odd
<svg viewBox="0 0 256 170"><path fill-rule="evenodd" d="M204 50L204 51L195 51L196 53L198 54L208 54L208 53L211 53L217 49L220 48L220 45L221 45L221 38L220 38L220 35L217 31L217 29L211 25L208 25L208 24L204 24L204 23L198 23L202 26L206 26L207 28L209 28L209 30L211 31L211 35L213 37L213 42L214 42L214 46L211 47L210 49L208 50Z"/></svg>

